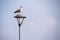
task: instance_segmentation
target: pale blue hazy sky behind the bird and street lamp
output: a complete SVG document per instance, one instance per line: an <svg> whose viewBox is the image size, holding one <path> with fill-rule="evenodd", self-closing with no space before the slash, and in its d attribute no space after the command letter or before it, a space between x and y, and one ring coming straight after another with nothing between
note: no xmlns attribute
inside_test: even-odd
<svg viewBox="0 0 60 40"><path fill-rule="evenodd" d="M59 40L59 0L0 0L0 39L18 40L13 13L23 4L27 17L21 27L21 40Z"/></svg>

